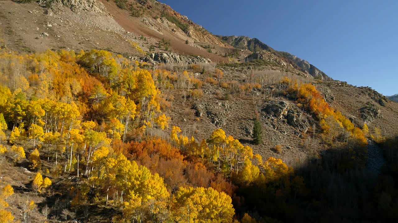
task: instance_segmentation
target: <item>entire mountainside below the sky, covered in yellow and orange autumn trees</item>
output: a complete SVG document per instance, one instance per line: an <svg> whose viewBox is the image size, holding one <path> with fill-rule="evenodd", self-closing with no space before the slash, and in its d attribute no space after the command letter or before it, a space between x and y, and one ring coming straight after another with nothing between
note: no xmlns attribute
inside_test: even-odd
<svg viewBox="0 0 398 223"><path fill-rule="evenodd" d="M0 9L1 221L398 219L377 91L155 0Z"/></svg>

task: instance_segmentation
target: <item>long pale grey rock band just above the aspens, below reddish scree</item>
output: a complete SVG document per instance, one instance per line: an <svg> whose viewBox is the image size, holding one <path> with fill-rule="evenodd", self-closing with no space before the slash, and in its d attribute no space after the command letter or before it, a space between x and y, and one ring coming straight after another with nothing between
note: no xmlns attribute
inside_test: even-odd
<svg viewBox="0 0 398 223"><path fill-rule="evenodd" d="M139 58L139 60L150 63L175 63L175 64L193 64L193 63L211 63L210 59L201 56L185 56L174 53L152 53L149 56Z"/></svg>

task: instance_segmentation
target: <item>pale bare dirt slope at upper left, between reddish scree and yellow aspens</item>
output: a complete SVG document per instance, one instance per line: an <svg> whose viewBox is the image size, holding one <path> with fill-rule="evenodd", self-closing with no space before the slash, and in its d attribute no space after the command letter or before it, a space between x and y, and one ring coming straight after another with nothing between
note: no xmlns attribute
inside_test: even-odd
<svg viewBox="0 0 398 223"><path fill-rule="evenodd" d="M0 39L2 45L12 50L108 49L123 55L139 55L126 42L136 35L125 32L109 16L94 12L78 15L67 8L60 14L46 15L47 10L36 3L9 0L0 1L0 8Z"/></svg>

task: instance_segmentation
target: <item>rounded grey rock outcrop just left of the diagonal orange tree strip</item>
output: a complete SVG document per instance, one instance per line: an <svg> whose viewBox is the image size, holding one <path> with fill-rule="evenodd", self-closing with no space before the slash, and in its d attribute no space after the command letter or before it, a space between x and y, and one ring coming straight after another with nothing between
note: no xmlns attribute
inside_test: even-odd
<svg viewBox="0 0 398 223"><path fill-rule="evenodd" d="M310 123L304 113L300 112L297 108L290 106L286 101L267 102L262 111L266 115L265 118L286 120L288 125L291 125L303 133L306 133L310 128Z"/></svg>

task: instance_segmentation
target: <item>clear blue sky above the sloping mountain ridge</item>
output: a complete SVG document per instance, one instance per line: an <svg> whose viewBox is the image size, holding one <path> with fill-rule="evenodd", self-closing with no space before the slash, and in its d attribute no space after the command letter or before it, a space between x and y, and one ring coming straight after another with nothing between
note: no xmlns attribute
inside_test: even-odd
<svg viewBox="0 0 398 223"><path fill-rule="evenodd" d="M217 35L256 37L333 79L398 94L396 0L160 0Z"/></svg>

